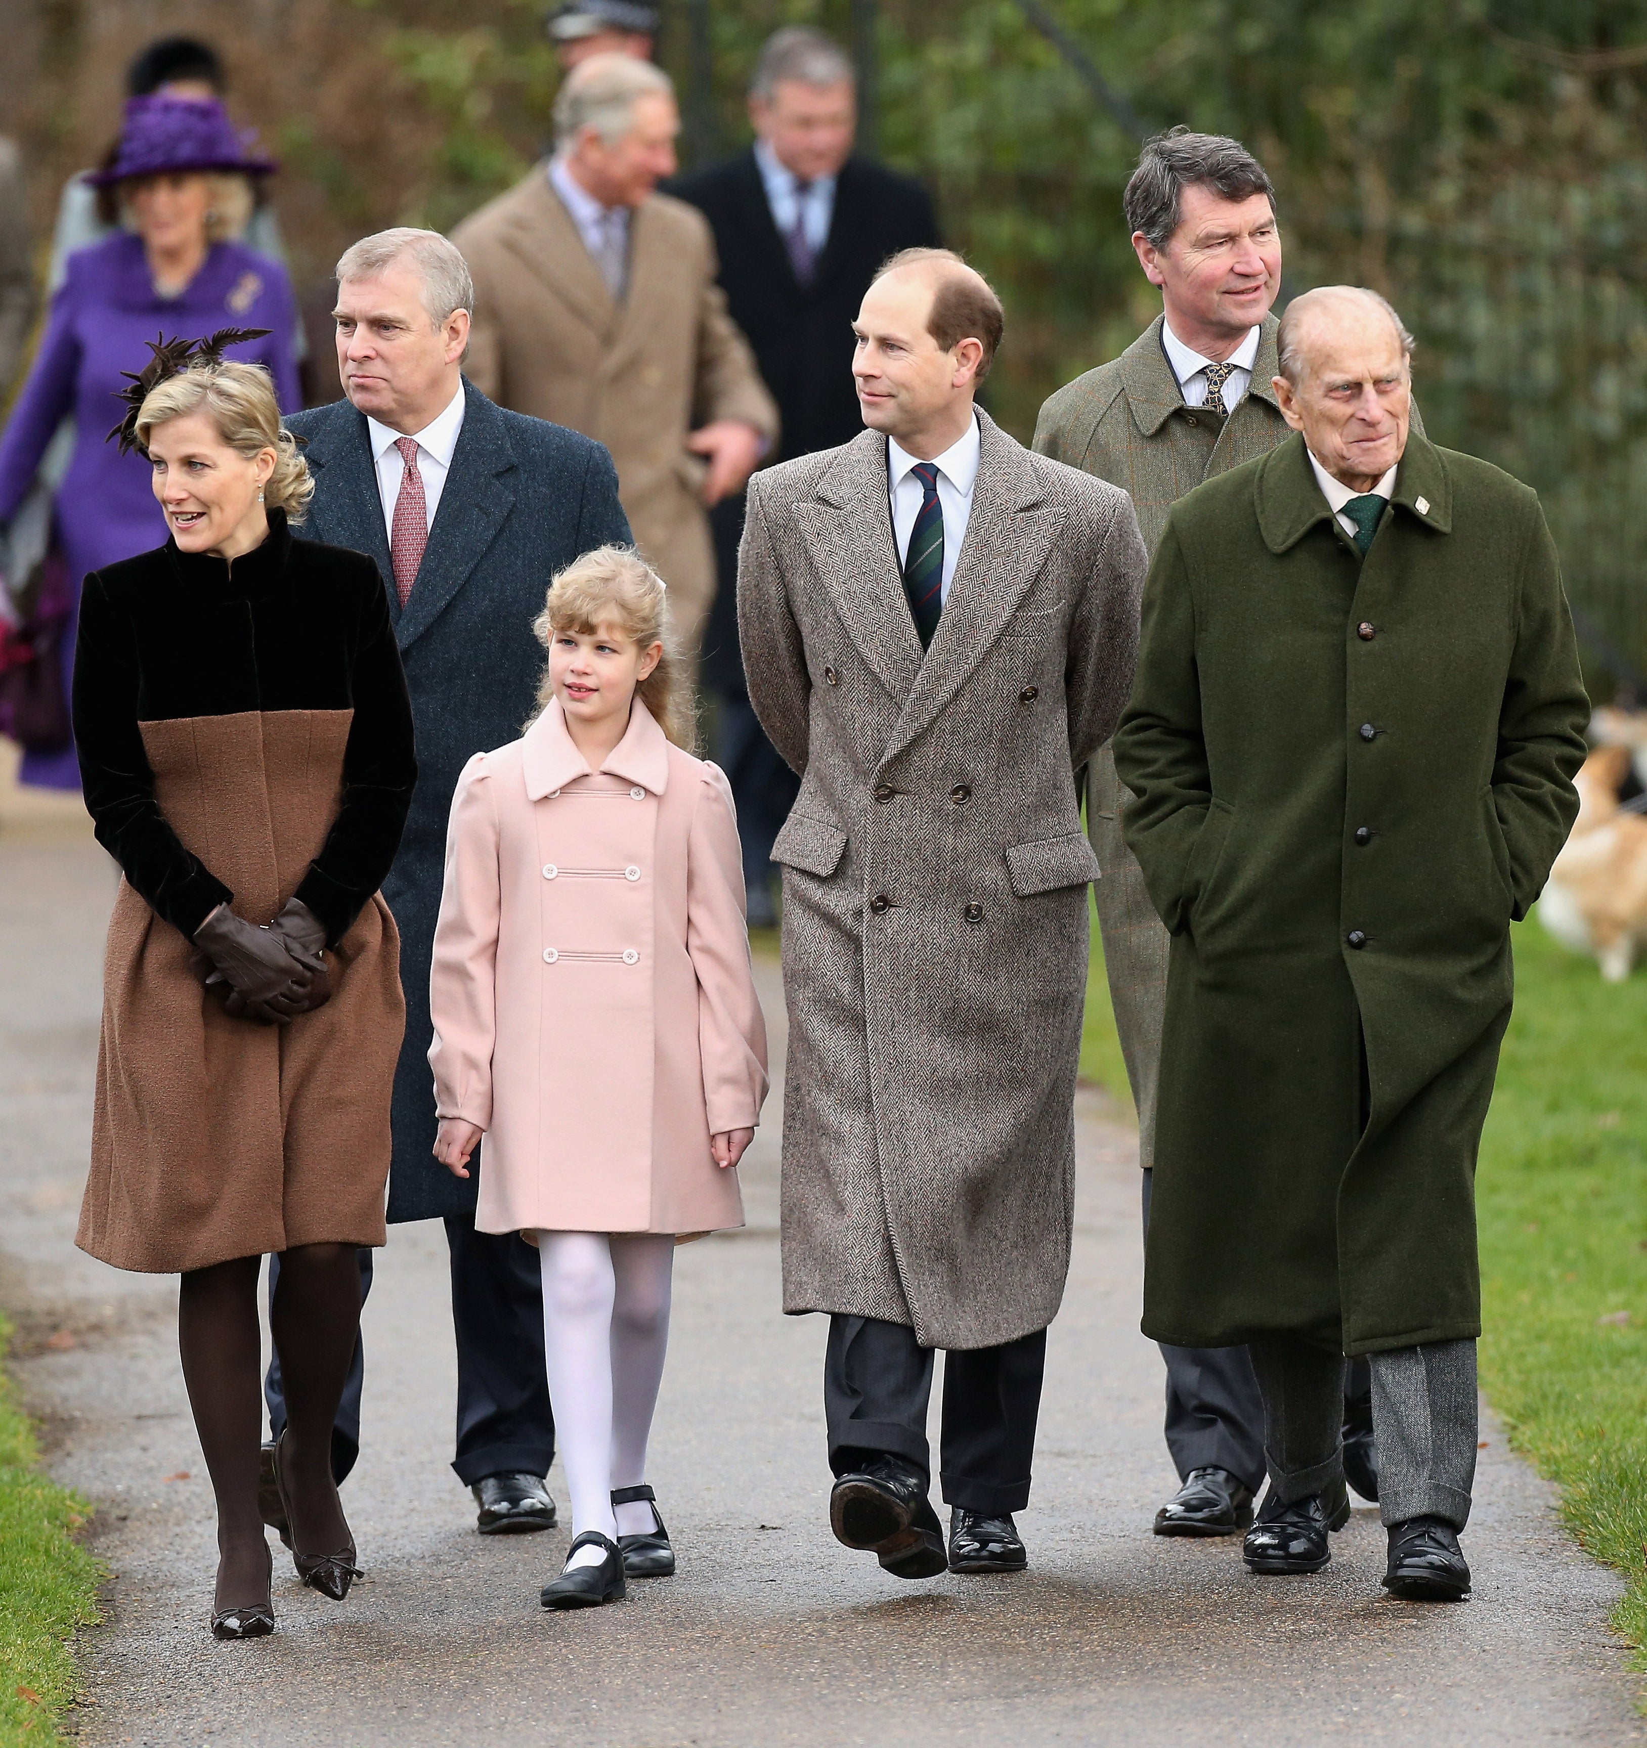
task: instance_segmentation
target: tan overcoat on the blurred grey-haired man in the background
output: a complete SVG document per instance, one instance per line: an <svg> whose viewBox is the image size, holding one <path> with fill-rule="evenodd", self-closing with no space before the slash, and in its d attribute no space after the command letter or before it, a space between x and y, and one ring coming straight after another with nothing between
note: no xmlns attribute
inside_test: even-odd
<svg viewBox="0 0 1647 1748"><path fill-rule="evenodd" d="M776 440L778 407L726 313L708 222L654 194L629 218L619 304L544 164L453 231L476 283L465 374L498 406L594 437L617 463L635 544L670 586L696 649L715 596L705 461L685 447L713 420Z"/></svg>

